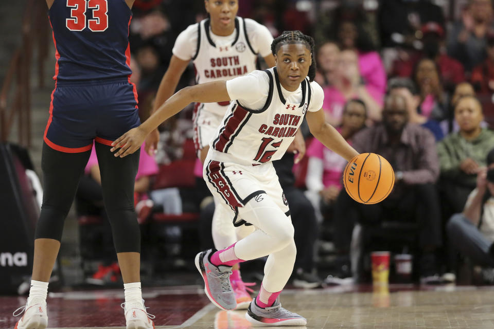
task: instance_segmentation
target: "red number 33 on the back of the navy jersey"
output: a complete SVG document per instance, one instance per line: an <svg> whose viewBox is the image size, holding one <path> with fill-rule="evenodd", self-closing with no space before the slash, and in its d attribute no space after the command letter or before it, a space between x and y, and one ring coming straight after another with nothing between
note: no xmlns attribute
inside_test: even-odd
<svg viewBox="0 0 494 329"><path fill-rule="evenodd" d="M87 6L87 8L86 8ZM67 0L70 18L65 20L65 26L70 31L82 31L89 27L93 32L102 32L108 28L108 0ZM92 10L93 19L87 20L86 12Z"/></svg>

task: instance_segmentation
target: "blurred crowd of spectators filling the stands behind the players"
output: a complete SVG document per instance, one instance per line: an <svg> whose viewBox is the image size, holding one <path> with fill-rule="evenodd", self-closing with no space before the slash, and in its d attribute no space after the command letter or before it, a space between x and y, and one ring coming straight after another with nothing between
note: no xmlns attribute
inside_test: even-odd
<svg viewBox="0 0 494 329"><path fill-rule="evenodd" d="M206 15L194 0L136 0L133 11L131 65L146 118L174 40ZM379 227L385 221L415 224L409 234L416 234L416 277L424 283L442 282L443 273L454 272L457 262L443 259L455 260L458 251L474 265L494 267L493 191L486 169L492 167L489 151L494 149L489 129L494 125L491 0L240 0L238 14L265 25L273 36L294 29L314 36L326 120L357 151L383 155L396 174L395 188L384 202L357 204L342 190L345 161L303 130L305 161L293 167L287 155L275 164L296 232L302 232L295 236L299 272L314 273L319 259L314 242L325 227L333 236L319 234L320 240L332 240L336 252L349 259L355 226ZM178 88L193 83L189 66ZM181 158L191 136L191 110L160 127L158 166ZM197 211L202 211L200 222L207 222L205 214L212 214L214 205L197 182L203 191L194 196ZM153 209L153 194L148 195L139 211ZM184 197L181 191L177 195ZM145 215L140 215L143 223ZM204 231L207 225L199 227ZM460 245L464 236L467 246Z"/></svg>

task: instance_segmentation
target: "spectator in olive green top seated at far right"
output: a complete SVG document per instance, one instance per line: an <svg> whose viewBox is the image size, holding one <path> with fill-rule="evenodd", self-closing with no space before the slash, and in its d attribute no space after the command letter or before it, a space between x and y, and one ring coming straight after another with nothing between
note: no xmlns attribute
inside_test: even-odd
<svg viewBox="0 0 494 329"><path fill-rule="evenodd" d="M460 98L454 108L460 131L451 133L437 144L440 163L439 188L444 209L462 212L480 168L486 165L485 154L494 145L494 133L482 128L482 105L473 96ZM448 216L449 218L449 216Z"/></svg>

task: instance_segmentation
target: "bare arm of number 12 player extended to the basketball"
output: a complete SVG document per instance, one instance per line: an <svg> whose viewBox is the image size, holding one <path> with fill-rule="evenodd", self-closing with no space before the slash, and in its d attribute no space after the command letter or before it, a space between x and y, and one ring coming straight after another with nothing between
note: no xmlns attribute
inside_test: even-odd
<svg viewBox="0 0 494 329"><path fill-rule="evenodd" d="M340 133L334 129L332 125L326 122L324 110L322 108L317 112L307 112L306 118L311 134L319 139L325 147L338 153L347 161L350 161L352 158L359 155Z"/></svg>

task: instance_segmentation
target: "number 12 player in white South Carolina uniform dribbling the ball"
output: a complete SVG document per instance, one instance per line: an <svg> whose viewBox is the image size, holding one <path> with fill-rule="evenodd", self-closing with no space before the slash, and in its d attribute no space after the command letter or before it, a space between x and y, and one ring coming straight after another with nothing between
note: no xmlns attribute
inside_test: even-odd
<svg viewBox="0 0 494 329"><path fill-rule="evenodd" d="M269 255L259 295L246 317L254 324L305 325L306 319L279 303L296 248L288 205L271 161L283 156L304 117L314 137L329 149L347 160L358 152L324 119L323 90L313 82L312 38L286 31L271 49L276 67L180 90L143 124L115 140L112 152L120 148L115 156L126 156L136 151L158 124L190 102L235 100L211 141L204 178L235 224L251 224L256 230L225 249L200 252L196 266L209 299L220 308L233 309L231 266Z"/></svg>

